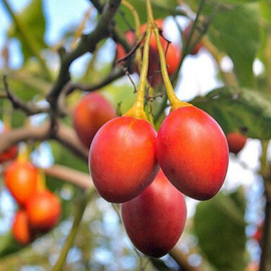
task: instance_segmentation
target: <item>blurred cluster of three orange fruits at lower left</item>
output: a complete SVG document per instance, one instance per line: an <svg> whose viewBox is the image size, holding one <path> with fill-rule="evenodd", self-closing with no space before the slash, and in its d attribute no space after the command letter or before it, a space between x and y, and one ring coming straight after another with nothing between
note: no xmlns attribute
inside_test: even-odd
<svg viewBox="0 0 271 271"><path fill-rule="evenodd" d="M47 188L43 173L27 159L25 153L11 162L4 172L5 185L19 205L12 234L21 245L31 243L39 233L51 230L61 215L58 198Z"/></svg>

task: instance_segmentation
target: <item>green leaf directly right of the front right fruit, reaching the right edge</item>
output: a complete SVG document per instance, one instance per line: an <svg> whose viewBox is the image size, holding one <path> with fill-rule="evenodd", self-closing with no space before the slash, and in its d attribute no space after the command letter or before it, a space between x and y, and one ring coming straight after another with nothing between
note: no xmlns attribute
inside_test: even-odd
<svg viewBox="0 0 271 271"><path fill-rule="evenodd" d="M271 138L270 95L225 86L191 103L212 115L226 134L247 130L248 137Z"/></svg>

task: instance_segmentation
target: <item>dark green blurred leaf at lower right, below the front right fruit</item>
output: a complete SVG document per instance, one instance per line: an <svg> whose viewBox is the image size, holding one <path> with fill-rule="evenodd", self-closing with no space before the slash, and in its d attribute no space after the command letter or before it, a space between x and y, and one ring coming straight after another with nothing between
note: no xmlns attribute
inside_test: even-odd
<svg viewBox="0 0 271 271"><path fill-rule="evenodd" d="M194 216L199 247L218 270L244 270L245 198L239 190L229 196L219 193L200 202Z"/></svg>

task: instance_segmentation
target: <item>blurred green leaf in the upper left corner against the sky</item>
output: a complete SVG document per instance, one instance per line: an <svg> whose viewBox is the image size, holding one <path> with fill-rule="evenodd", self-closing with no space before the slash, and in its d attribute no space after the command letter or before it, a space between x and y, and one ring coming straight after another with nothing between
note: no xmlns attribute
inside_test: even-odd
<svg viewBox="0 0 271 271"><path fill-rule="evenodd" d="M25 32L32 37L35 46L39 48L39 50L46 48L47 46L44 42L45 18L42 10L42 0L32 0L29 5L16 16L25 28ZM20 41L24 59L32 56L31 49L29 49L27 43L24 42L24 39L21 37L14 23L8 30L8 36L10 38L17 38Z"/></svg>

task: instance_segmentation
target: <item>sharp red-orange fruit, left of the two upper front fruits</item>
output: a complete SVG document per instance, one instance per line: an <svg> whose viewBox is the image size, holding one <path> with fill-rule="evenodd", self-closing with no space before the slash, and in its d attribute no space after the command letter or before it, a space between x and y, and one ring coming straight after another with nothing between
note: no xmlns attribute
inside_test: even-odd
<svg viewBox="0 0 271 271"><path fill-rule="evenodd" d="M143 119L121 116L106 123L89 149L88 165L98 193L121 203L138 196L155 178L155 129Z"/></svg>

